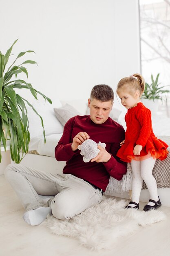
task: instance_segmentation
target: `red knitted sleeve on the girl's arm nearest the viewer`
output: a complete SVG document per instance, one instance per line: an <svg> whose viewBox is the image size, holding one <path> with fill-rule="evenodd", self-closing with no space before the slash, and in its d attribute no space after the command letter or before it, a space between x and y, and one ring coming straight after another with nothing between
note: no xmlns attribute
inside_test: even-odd
<svg viewBox="0 0 170 256"><path fill-rule="evenodd" d="M150 136L150 132L152 129L151 111L149 109L141 110L137 114L137 119L141 125L141 130L136 144L144 147L146 145L146 142L148 141L148 137Z"/></svg>

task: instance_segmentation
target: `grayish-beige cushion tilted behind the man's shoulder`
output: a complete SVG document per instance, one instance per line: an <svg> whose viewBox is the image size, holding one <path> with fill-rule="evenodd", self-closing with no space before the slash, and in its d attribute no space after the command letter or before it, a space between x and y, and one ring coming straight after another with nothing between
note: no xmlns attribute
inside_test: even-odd
<svg viewBox="0 0 170 256"><path fill-rule="evenodd" d="M54 108L55 115L60 123L64 126L66 122L71 118L77 115L81 115L75 108L67 104L62 108Z"/></svg>

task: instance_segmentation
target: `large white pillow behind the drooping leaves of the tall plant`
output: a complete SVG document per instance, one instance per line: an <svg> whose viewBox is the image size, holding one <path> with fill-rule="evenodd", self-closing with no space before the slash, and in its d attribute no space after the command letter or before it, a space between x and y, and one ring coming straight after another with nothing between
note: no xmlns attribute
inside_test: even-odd
<svg viewBox="0 0 170 256"><path fill-rule="evenodd" d="M35 100L32 103L35 110L43 119L45 135L63 132L63 126L57 120L53 111L54 107L62 107L62 103L58 99L55 99L52 102L53 104L50 104L48 101L44 101L44 103L42 103L41 101ZM32 110L30 106L27 106L27 110L31 139L34 137L43 136L43 128L40 117Z"/></svg>

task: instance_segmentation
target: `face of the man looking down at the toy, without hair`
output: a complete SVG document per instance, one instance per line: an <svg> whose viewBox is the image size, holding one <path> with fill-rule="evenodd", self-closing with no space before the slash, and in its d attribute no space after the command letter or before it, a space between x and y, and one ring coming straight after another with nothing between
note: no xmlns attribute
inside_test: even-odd
<svg viewBox="0 0 170 256"><path fill-rule="evenodd" d="M88 99L91 120L95 124L103 124L108 119L112 106L112 101L101 102L97 99Z"/></svg>

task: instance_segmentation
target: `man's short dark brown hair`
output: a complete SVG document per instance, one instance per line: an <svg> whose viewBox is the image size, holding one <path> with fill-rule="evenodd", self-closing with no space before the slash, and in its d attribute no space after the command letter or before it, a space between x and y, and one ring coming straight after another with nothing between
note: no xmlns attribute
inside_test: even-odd
<svg viewBox="0 0 170 256"><path fill-rule="evenodd" d="M91 99L97 99L101 102L112 101L113 103L114 92L108 85L95 85L91 90Z"/></svg>

